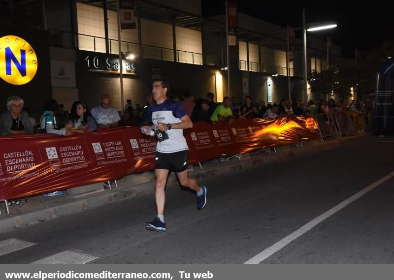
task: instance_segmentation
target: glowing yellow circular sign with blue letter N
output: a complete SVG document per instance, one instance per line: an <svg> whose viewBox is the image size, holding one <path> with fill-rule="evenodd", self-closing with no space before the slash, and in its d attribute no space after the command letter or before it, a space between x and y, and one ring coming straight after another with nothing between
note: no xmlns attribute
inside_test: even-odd
<svg viewBox="0 0 394 280"><path fill-rule="evenodd" d="M0 77L13 85L29 83L37 72L37 56L33 47L14 35L0 38Z"/></svg>

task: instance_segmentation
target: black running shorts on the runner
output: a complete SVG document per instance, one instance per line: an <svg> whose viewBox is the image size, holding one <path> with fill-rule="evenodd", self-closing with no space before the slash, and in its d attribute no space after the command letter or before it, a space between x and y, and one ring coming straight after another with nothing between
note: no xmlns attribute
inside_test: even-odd
<svg viewBox="0 0 394 280"><path fill-rule="evenodd" d="M182 172L188 169L189 151L180 151L175 153L160 153L156 151L155 169L174 170Z"/></svg>

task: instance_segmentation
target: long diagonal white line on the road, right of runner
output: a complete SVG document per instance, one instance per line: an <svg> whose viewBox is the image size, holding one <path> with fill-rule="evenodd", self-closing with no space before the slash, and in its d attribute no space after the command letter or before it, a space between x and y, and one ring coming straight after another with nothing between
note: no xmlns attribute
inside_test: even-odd
<svg viewBox="0 0 394 280"><path fill-rule="evenodd" d="M313 227L318 225L320 222L322 222L325 219L327 219L328 217L334 215L336 212L338 212L342 208L346 207L347 205L349 205L353 201L359 199L361 196L363 196L368 191L374 189L375 187L378 187L379 185L383 184L384 182L386 182L387 180L389 180L389 179L391 179L393 177L394 177L394 172L392 172L389 175L386 175L385 177L379 179L375 183L372 183L368 187L365 187L365 188L361 189L356 194L354 194L351 197L349 197L348 199L342 201L338 205L332 207L330 210L328 210L327 212L323 213L319 217L314 218L310 222L304 224L299 229L297 229L295 232L293 232L290 235L286 236L285 238L283 238L282 240L278 241L277 243L275 243L271 247L269 247L269 248L263 250L262 252L258 253L253 258L251 258L248 261L246 261L245 263L261 263L263 260L265 260L266 258L271 256L272 254L276 253L280 249L284 248L286 245L288 245L289 243L291 243L294 240L296 240L298 237L300 237L301 235L303 235L304 233L306 233L307 231L309 231L310 229L312 229Z"/></svg>

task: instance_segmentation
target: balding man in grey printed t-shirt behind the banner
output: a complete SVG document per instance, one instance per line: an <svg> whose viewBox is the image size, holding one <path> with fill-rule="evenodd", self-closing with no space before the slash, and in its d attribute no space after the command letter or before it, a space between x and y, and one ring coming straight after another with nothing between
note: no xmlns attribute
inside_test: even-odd
<svg viewBox="0 0 394 280"><path fill-rule="evenodd" d="M91 113L99 128L116 127L120 121L118 111L111 107L111 96L108 94L102 95L101 106L94 107Z"/></svg>

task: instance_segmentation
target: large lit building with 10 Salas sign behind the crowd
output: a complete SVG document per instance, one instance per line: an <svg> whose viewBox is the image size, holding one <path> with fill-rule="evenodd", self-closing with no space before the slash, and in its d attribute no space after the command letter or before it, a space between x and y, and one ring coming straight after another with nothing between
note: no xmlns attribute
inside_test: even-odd
<svg viewBox="0 0 394 280"><path fill-rule="evenodd" d="M43 72L47 71L48 81L41 81L45 86L42 90L34 88L37 94L42 92L38 100L52 96L69 110L75 100L85 101L90 107L99 105L100 96L107 93L112 97L112 105L120 110L114 1L28 2L43 19L32 15L30 23L26 23L29 17L25 15L23 21L23 17L15 14L21 7L13 6L10 22L33 25L34 32L47 34L49 67L39 68L39 73L42 71L40 77L44 77ZM143 106L151 93L151 81L157 77L169 82L171 98L183 92L205 98L206 93L212 92L218 102L224 96L236 96L238 101L243 101L246 95L251 95L254 102L273 103L289 98L290 92L291 98L303 100L301 44L296 41L294 60L288 68L285 28L238 13L237 46L230 47L227 65L225 17L202 17L199 0L172 0L165 5L163 1L135 0L134 12L136 28L121 31L124 100L132 99L133 104ZM308 37L307 54L308 72L327 67L327 42ZM332 45L331 56L341 58L338 46ZM2 96L4 100L8 97L5 95L18 93L9 87ZM33 111L33 107L41 110L37 99L31 102L29 107Z"/></svg>

